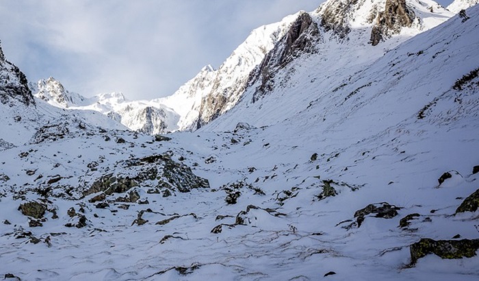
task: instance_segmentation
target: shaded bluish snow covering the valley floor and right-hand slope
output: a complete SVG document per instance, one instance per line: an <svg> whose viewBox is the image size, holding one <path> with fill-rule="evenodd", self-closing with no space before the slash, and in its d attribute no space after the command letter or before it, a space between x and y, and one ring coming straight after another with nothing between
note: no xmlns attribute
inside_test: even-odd
<svg viewBox="0 0 479 281"><path fill-rule="evenodd" d="M1 138L16 145L0 151L0 273L22 280L318 280L334 271L324 278L477 280L478 256L448 260L430 254L409 267L409 245L419 239L479 235L479 211L455 214L479 178L472 174L479 164L479 78L463 90L453 88L478 68L479 7L467 14L464 23L454 16L409 40L401 34L374 53L365 42L354 44L359 29L346 45L326 37L320 53L276 73L285 82L259 101L251 102L253 85L229 112L196 132L168 134L169 141L115 127L98 112L53 108L40 100L36 109L0 104L8 120L0 132L9 132ZM12 121L18 114L25 121ZM252 126L233 131L239 122ZM31 143L40 127L54 124L69 133ZM115 142L120 137L125 143ZM157 178L145 180L133 188L148 204L110 202L104 209L88 201L97 193L80 196L107 173L133 175L136 168L125 169L125 162L164 154L191 167L210 187L188 193L173 188L172 196L163 197L148 193ZM211 156L216 160L207 161ZM93 161L96 170L87 167ZM439 185L448 171L452 178ZM2 174L10 180L2 181ZM55 175L62 179L47 185ZM337 195L320 199L323 181ZM238 182L253 188L235 189ZM72 195L50 196L43 226L29 227L18 206L41 199L34 190L45 186L55 193L70 186ZM236 204L226 203L227 188L241 193ZM368 215L361 227L348 229L357 210L380 202L400 207L398 215ZM80 206L87 226L64 226L77 219L68 209L81 213ZM142 210L148 222L133 224ZM400 219L413 213L419 217L400 228ZM155 224L174 216L181 217ZM236 224L237 217L244 224ZM211 233L220 224L222 232ZM40 243L15 238L24 231Z"/></svg>

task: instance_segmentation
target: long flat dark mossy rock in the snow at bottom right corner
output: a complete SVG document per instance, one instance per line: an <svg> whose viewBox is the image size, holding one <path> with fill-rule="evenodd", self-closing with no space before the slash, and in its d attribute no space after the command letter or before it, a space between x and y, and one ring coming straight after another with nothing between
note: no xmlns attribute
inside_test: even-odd
<svg viewBox="0 0 479 281"><path fill-rule="evenodd" d="M471 258L476 256L479 249L479 239L462 240L432 240L421 239L410 247L411 265L415 265L419 258L427 254L435 254L441 258Z"/></svg>

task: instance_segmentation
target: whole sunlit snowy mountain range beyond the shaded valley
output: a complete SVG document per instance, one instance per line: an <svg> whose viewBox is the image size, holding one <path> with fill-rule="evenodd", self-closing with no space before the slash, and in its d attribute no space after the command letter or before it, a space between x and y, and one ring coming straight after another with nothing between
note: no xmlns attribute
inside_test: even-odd
<svg viewBox="0 0 479 281"><path fill-rule="evenodd" d="M474 1L455 1L450 5L455 11L454 5L467 8ZM97 110L147 134L198 130L234 108L245 93L254 90L247 102L255 103L275 86L288 84L296 69L286 66L301 56L305 60L322 56L325 62L318 66L332 72L345 66L359 70L361 64L372 63L400 42L452 15L429 0L326 1L314 12L299 12L255 29L218 69L205 66L166 98L133 102L124 97L86 99L65 93L53 79L40 81L35 92L60 108ZM275 77L281 72L287 73L278 80Z"/></svg>

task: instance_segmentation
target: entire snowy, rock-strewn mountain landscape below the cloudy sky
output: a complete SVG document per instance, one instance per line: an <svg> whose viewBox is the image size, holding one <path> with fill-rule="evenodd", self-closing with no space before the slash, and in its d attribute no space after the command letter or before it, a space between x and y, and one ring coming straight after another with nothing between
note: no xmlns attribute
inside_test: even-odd
<svg viewBox="0 0 479 281"><path fill-rule="evenodd" d="M0 49L0 274L477 280L476 3L329 0L151 101Z"/></svg>

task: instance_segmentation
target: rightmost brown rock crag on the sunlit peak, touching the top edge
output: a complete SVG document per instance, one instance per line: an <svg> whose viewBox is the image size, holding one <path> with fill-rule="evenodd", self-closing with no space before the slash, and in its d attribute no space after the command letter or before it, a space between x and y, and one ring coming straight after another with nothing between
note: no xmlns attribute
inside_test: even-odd
<svg viewBox="0 0 479 281"><path fill-rule="evenodd" d="M371 44L376 46L388 36L398 34L402 27L411 27L416 18L406 0L387 0L385 10L378 13L372 27Z"/></svg>

